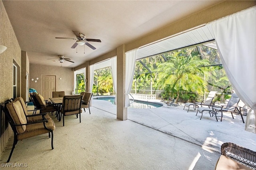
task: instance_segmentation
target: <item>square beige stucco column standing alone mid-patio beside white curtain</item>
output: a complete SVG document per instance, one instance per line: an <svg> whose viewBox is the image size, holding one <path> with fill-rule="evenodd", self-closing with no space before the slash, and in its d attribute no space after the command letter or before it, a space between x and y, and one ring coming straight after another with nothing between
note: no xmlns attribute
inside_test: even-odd
<svg viewBox="0 0 256 170"><path fill-rule="evenodd" d="M116 90L116 118L122 121L127 120L127 108L125 103L125 45L116 48L116 71L117 71L117 90Z"/></svg>

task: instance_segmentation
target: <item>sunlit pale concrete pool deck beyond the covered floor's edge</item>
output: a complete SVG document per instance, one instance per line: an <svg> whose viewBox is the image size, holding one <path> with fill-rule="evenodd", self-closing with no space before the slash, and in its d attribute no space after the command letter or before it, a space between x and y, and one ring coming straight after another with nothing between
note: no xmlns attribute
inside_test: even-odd
<svg viewBox="0 0 256 170"><path fill-rule="evenodd" d="M242 123L240 115L234 115L232 119L231 114L224 113L222 122L220 117L217 117L217 122L215 117L210 117L205 112L200 120L201 114L198 113L196 116L196 111L192 108L189 112L187 107L183 110L184 104L177 107L163 104L162 107L154 109L128 108L128 120L216 153L220 153L220 147L224 142L233 142L256 150L256 134L244 130L245 124ZM116 115L116 105L108 101L92 100L92 107ZM243 117L246 120L246 116Z"/></svg>

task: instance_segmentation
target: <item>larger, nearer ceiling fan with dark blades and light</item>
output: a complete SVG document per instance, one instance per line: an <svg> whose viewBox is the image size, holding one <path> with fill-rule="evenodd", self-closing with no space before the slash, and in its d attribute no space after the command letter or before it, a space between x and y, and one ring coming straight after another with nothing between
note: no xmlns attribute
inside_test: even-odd
<svg viewBox="0 0 256 170"><path fill-rule="evenodd" d="M76 38L63 38L63 37L55 37L57 39L71 39L71 40L76 40L76 42L72 45L71 48L76 48L77 45L87 45L88 47L90 47L91 49L96 49L94 46L92 46L90 43L88 42L101 42L98 39L89 39L89 38L85 38L85 35L76 31L72 31L74 32L74 34L76 35Z"/></svg>

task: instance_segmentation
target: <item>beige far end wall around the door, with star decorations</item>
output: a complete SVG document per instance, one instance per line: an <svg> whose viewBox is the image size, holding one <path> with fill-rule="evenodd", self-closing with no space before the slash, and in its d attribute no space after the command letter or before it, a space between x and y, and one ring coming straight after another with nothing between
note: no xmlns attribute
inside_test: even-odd
<svg viewBox="0 0 256 170"><path fill-rule="evenodd" d="M74 72L72 68L30 64L29 69L30 79L39 78L36 83L29 79L29 88L36 89L38 93L42 94L42 75L54 75L56 76L56 91L65 91L66 95L71 95L74 87Z"/></svg>

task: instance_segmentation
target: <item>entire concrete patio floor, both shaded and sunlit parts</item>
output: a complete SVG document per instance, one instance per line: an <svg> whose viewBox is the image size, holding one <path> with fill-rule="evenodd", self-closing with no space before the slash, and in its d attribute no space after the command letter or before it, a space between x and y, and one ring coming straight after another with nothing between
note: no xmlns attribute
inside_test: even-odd
<svg viewBox="0 0 256 170"><path fill-rule="evenodd" d="M107 108L107 109L106 109ZM214 169L223 142L234 142L251 150L256 136L244 130L236 116L222 122L183 106L155 109L128 108L128 120L116 119L116 106L92 100L81 114L81 123L67 117L65 127L54 116L54 150L50 138L40 135L16 145L11 164L4 163L12 148L11 138L1 155L1 169ZM78 163L79 162L79 163Z"/></svg>

